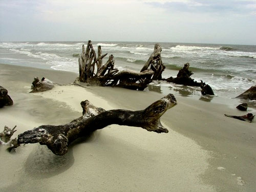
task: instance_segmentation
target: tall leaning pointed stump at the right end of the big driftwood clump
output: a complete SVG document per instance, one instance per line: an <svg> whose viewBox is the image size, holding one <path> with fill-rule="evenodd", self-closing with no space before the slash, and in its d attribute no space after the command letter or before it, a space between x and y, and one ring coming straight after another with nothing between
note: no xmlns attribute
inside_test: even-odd
<svg viewBox="0 0 256 192"><path fill-rule="evenodd" d="M163 65L163 62L162 62L161 51L162 51L162 48L160 47L160 45L155 44L154 52L151 54L150 58L148 58L145 65L140 70L140 72L146 71L148 69L151 69L152 71L154 71L154 75L151 78L152 80L162 79L162 73L165 69L165 66Z"/></svg>

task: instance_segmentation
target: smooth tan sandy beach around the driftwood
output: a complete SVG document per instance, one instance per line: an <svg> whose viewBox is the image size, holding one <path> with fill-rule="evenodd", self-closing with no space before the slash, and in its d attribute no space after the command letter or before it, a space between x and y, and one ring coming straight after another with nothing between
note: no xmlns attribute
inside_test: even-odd
<svg viewBox="0 0 256 192"><path fill-rule="evenodd" d="M0 86L14 102L0 109L0 131L17 125L13 137L80 117L82 100L105 110L142 110L164 96L74 86L78 74L72 72L4 64L0 69ZM66 86L29 93L35 76ZM255 120L225 117L245 114L230 104L234 101L221 105L175 97L178 105L161 118L167 134L110 125L72 144L65 156L55 156L39 143L13 153L0 146L0 191L255 191Z"/></svg>

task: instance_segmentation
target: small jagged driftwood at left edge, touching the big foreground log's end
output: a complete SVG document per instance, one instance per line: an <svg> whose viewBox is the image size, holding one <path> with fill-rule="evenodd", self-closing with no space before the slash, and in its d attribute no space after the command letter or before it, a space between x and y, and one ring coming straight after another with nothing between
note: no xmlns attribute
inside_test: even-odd
<svg viewBox="0 0 256 192"><path fill-rule="evenodd" d="M13 129L5 126L4 131L0 133L0 144L9 146L8 150L19 146L17 143L17 138L10 140L14 132L17 131L15 128L16 125L13 127Z"/></svg>

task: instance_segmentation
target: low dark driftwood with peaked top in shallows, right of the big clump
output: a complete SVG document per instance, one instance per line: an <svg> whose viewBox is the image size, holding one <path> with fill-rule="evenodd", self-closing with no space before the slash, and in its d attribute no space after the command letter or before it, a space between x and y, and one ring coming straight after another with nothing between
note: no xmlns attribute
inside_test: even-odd
<svg viewBox="0 0 256 192"><path fill-rule="evenodd" d="M199 87L201 85L201 82L197 82L194 79L192 79L190 76L193 75L191 71L188 70L189 63L185 63L184 67L179 71L177 74L177 77L169 77L165 79L168 82L173 82L176 84L183 84L184 86L197 86Z"/></svg>

